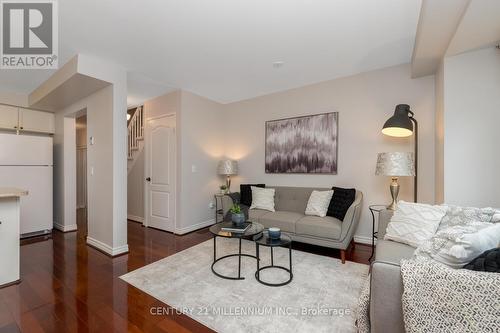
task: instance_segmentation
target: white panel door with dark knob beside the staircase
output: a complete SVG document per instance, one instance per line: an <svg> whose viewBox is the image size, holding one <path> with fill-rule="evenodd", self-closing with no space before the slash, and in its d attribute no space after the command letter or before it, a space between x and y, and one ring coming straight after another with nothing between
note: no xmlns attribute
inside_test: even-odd
<svg viewBox="0 0 500 333"><path fill-rule="evenodd" d="M176 137L175 116L147 121L146 224L175 231Z"/></svg>

